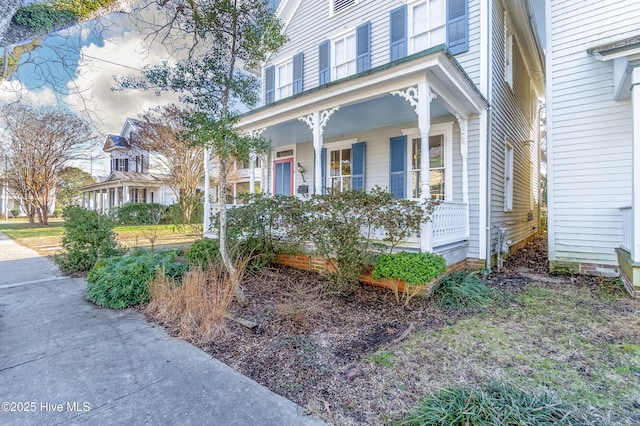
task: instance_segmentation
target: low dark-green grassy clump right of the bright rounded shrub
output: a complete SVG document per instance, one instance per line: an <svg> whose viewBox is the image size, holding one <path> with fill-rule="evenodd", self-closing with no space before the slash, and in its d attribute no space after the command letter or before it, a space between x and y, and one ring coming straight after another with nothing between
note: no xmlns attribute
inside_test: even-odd
<svg viewBox="0 0 640 426"><path fill-rule="evenodd" d="M494 293L477 272L460 271L442 278L433 289L433 297L445 309L484 308L494 301Z"/></svg>

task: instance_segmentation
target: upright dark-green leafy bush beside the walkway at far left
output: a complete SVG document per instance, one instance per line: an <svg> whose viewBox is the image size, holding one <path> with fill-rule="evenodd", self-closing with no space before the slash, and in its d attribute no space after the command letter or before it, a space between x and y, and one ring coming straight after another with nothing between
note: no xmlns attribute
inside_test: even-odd
<svg viewBox="0 0 640 426"><path fill-rule="evenodd" d="M100 258L122 253L113 232L113 221L96 211L68 206L63 211L62 247L66 253L56 257L65 272L86 272Z"/></svg>

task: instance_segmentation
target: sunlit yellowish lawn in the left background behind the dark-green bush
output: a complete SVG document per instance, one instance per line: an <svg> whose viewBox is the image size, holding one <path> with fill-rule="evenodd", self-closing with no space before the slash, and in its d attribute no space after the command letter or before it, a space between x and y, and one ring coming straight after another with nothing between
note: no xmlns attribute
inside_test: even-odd
<svg viewBox="0 0 640 426"><path fill-rule="evenodd" d="M64 221L60 218L50 218L48 226L30 224L22 218L0 221L0 231L44 256L62 252ZM116 226L114 231L124 247L169 249L188 246L201 237L191 228L177 229L174 225Z"/></svg>

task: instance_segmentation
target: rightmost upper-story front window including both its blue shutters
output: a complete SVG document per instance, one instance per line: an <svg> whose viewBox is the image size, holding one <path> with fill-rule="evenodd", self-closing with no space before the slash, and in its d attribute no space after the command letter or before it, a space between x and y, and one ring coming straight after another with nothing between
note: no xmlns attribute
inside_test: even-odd
<svg viewBox="0 0 640 426"><path fill-rule="evenodd" d="M467 0L411 0L390 12L390 60L446 43L469 49Z"/></svg>

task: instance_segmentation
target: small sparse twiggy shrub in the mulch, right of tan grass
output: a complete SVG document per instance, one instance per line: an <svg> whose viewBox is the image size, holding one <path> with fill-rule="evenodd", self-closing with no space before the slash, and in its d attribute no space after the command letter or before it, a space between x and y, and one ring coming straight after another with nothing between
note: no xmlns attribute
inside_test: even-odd
<svg viewBox="0 0 640 426"><path fill-rule="evenodd" d="M276 311L298 326L316 323L329 305L329 291L324 282L309 277L287 277L281 288L284 291L284 302L276 306Z"/></svg>

